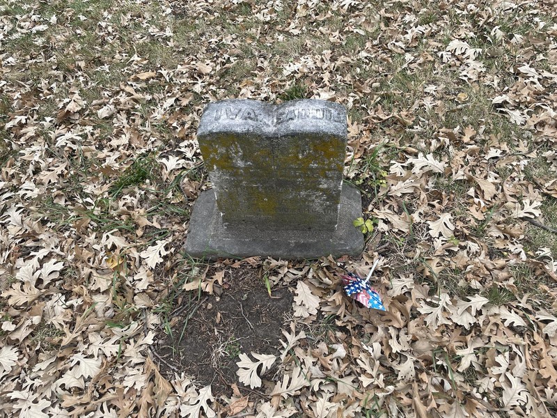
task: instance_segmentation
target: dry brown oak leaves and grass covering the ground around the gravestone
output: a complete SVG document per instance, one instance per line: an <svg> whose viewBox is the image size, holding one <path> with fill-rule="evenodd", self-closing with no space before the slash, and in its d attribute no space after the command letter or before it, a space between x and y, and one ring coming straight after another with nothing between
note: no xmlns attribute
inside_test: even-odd
<svg viewBox="0 0 557 418"><path fill-rule="evenodd" d="M3 1L1 415L556 415L556 10ZM384 314L329 258L181 252L205 104L301 97L348 109L345 178L375 227L345 263L379 260ZM293 297L278 350L222 340L230 387L173 370L185 318L242 277Z"/></svg>

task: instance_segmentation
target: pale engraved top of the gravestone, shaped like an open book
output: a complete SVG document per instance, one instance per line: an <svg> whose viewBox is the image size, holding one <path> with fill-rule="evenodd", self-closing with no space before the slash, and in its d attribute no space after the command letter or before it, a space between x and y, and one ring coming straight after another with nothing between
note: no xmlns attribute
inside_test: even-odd
<svg viewBox="0 0 557 418"><path fill-rule="evenodd" d="M261 133L280 136L290 132L320 132L344 137L346 109L326 100L300 99L270 104L250 99L219 100L207 104L198 137L215 133Z"/></svg>

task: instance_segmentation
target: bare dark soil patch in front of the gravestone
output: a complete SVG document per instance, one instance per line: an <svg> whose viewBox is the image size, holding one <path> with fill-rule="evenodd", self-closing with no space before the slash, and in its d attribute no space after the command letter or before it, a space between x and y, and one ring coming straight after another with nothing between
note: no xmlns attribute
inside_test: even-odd
<svg viewBox="0 0 557 418"><path fill-rule="evenodd" d="M234 277L240 273L242 277ZM163 359L159 363L162 373L184 371L200 385L212 385L214 396L229 396L234 383L244 387L236 375L240 353L278 355L293 295L283 287L273 288L269 297L256 270L242 269L227 272L223 286L215 285L214 293L191 302L174 321L173 338L161 332L155 350ZM265 373L272 374L274 369Z"/></svg>

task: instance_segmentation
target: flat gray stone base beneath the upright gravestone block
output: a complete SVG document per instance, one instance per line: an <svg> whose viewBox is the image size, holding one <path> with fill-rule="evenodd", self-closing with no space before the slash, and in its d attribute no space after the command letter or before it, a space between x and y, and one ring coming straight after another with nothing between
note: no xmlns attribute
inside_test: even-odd
<svg viewBox="0 0 557 418"><path fill-rule="evenodd" d="M361 217L361 195L343 184L336 231L265 230L257 225L224 228L213 190L201 192L189 222L185 252L192 258L319 258L358 256L363 234L352 224Z"/></svg>

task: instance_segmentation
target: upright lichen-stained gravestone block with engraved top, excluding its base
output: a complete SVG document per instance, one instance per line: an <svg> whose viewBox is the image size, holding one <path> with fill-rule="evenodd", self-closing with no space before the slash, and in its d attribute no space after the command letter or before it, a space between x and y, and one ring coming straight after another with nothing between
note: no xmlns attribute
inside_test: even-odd
<svg viewBox="0 0 557 418"><path fill-rule="evenodd" d="M322 100L209 104L197 133L223 222L336 228L346 111Z"/></svg>

